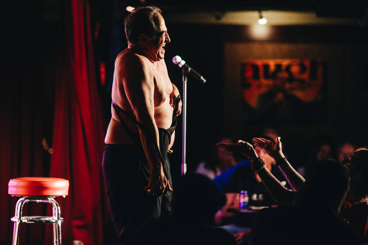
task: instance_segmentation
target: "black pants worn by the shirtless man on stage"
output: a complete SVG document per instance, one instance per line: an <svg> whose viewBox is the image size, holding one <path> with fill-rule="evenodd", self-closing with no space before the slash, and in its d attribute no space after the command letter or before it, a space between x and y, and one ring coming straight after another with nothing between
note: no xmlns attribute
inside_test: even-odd
<svg viewBox="0 0 368 245"><path fill-rule="evenodd" d="M172 187L167 157L163 168ZM162 197L154 197L144 190L150 170L142 147L107 144L103 153L102 170L110 213L116 233L122 241L146 221L171 213L171 191L165 190Z"/></svg>

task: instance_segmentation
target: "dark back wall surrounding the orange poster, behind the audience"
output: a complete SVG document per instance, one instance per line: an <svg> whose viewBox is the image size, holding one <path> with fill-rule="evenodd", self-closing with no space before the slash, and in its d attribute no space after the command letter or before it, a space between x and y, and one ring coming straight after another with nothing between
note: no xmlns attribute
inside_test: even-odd
<svg viewBox="0 0 368 245"><path fill-rule="evenodd" d="M211 144L214 144L219 136L230 136L233 140L249 139L259 135L265 126L275 127L283 136L283 142L289 145L289 150L301 152L302 157L308 154L308 142L320 134L330 135L336 141L346 139L355 141L357 144L368 144L365 140L368 136L365 127L368 121L368 88L365 73L368 64L364 58L367 55L367 28L275 26L270 27L269 37L258 40L252 35L249 26L174 25L170 24L169 20L166 20L166 26L171 43L166 46L165 60L173 82L178 87L181 86L181 69L171 63L174 55L180 55L207 79L207 82L202 85L195 79L188 78L187 165L189 172L195 169L199 161L206 158ZM238 120L237 116L232 117L234 123L231 124L231 120L229 122L226 115L229 115L229 111L233 114L240 112L234 109L238 108L238 105L233 96L224 93L227 86L232 86L229 81L234 80L224 72L226 65L224 57L228 55L224 53L225 43L229 45L234 43L289 44L289 53L292 52L294 44L300 44L301 47L303 44L305 46L312 44L320 46L322 50L323 47L326 47L333 52L328 55L330 60L337 65L328 70L330 78L328 79L330 98L328 122L323 125L275 126L270 120L263 125L243 125L241 115L239 115ZM301 52L308 52L308 50L300 50ZM328 53L325 51L325 54L326 52ZM236 54L237 52L234 52L233 55ZM318 56L318 53L315 55ZM253 57L255 58L256 55ZM334 60L334 57L338 59ZM292 54L290 57L277 57L275 52L267 57L263 50L262 58L297 57ZM323 58L325 57L321 54L321 59ZM234 74L234 76L238 80L239 74ZM177 142L171 157L173 169L176 169L175 164L179 165L181 162L181 131L177 130L176 134ZM177 171L180 173L180 169Z"/></svg>

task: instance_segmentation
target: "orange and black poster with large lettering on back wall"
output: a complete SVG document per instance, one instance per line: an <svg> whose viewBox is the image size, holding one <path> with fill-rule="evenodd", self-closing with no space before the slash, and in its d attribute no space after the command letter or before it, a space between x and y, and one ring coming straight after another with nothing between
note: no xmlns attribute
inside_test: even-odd
<svg viewBox="0 0 368 245"><path fill-rule="evenodd" d="M244 121L263 124L325 121L325 70L324 62L319 60L244 61L241 64Z"/></svg>

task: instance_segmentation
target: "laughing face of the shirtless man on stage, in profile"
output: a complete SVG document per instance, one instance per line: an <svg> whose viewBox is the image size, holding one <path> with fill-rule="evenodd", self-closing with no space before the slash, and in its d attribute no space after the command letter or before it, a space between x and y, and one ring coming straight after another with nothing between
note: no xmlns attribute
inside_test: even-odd
<svg viewBox="0 0 368 245"><path fill-rule="evenodd" d="M165 54L165 44L170 43L169 34L167 34L167 28L165 21L161 15L158 16L160 31L153 39L148 42L148 49L152 54L155 61L160 61L164 58Z"/></svg>

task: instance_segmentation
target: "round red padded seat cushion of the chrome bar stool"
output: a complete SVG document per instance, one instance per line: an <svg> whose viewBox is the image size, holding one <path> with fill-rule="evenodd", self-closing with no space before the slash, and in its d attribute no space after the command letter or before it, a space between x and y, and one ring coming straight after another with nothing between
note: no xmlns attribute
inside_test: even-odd
<svg viewBox="0 0 368 245"><path fill-rule="evenodd" d="M66 196L69 181L50 177L21 177L11 179L8 194L24 196Z"/></svg>

